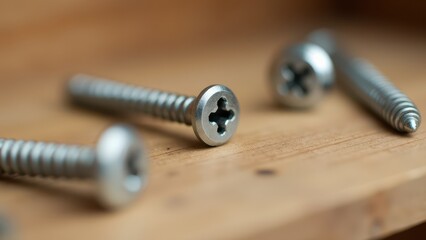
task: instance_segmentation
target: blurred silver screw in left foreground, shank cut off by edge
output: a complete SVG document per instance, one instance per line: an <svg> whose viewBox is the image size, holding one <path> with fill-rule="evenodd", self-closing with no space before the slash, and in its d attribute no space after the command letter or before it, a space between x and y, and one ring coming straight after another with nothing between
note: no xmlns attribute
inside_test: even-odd
<svg viewBox="0 0 426 240"><path fill-rule="evenodd" d="M95 149L56 143L0 139L0 174L94 179L98 200L116 209L144 189L148 160L136 131L114 125Z"/></svg>

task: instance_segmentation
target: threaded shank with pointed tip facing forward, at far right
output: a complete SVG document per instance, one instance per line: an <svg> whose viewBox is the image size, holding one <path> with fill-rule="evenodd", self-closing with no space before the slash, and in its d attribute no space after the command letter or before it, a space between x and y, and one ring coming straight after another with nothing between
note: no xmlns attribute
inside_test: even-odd
<svg viewBox="0 0 426 240"><path fill-rule="evenodd" d="M421 115L416 105L374 66L361 59L339 59L338 62L341 70L349 76L344 84L361 101L398 131L412 132L417 129Z"/></svg>

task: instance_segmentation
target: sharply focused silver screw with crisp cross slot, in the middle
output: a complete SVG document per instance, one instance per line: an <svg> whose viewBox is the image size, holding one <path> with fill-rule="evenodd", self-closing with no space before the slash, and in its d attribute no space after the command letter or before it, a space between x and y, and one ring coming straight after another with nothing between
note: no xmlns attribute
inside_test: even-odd
<svg viewBox="0 0 426 240"><path fill-rule="evenodd" d="M209 86L195 98L79 74L69 81L68 93L83 105L192 125L198 139L210 146L226 143L238 126L238 100L223 85Z"/></svg>

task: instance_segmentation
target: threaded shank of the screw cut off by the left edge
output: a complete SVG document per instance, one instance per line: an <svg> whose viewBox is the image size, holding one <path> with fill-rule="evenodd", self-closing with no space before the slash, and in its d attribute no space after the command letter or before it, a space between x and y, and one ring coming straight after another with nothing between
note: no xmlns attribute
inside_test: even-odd
<svg viewBox="0 0 426 240"><path fill-rule="evenodd" d="M0 139L1 174L90 178L95 159L95 151L87 147Z"/></svg>

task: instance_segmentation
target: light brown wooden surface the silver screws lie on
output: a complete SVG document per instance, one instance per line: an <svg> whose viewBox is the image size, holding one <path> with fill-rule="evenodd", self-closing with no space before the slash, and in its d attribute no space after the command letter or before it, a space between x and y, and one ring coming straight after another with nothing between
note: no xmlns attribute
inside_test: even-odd
<svg viewBox="0 0 426 240"><path fill-rule="evenodd" d="M424 35L363 23L333 26L354 54L376 64L425 112ZM148 189L123 211L97 208L89 182L5 177L0 211L21 239L35 240L355 240L424 221L424 126L398 135L339 88L310 111L274 104L266 79L271 57L308 29L294 25L157 54L89 51L93 56L81 61L71 53L56 56L52 49L66 41L46 37L62 44L49 52L58 62L1 58L9 66L0 81L2 137L94 144L110 124L130 122L146 141L151 169ZM21 57L42 56L34 42L13 49ZM241 103L238 132L228 144L208 148L184 125L70 107L63 81L76 71L194 95L226 84Z"/></svg>

